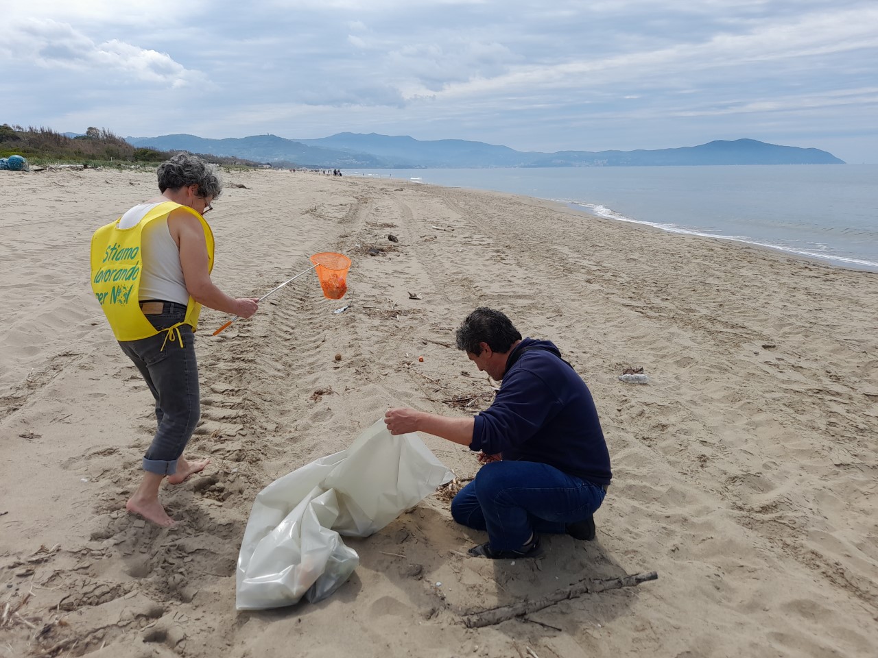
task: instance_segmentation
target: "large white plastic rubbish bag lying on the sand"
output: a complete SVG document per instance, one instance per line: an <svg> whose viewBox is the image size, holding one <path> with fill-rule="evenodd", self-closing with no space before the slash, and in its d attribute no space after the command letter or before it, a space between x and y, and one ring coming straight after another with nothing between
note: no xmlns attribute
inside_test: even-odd
<svg viewBox="0 0 878 658"><path fill-rule="evenodd" d="M328 597L359 556L340 534L368 537L453 474L416 434L392 436L384 420L260 491L238 554L238 610Z"/></svg>

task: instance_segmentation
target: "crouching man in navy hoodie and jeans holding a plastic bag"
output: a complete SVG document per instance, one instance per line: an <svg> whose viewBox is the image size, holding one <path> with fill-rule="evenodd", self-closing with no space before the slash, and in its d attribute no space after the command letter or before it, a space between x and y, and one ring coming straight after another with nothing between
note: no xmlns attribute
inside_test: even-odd
<svg viewBox="0 0 878 658"><path fill-rule="evenodd" d="M493 404L468 418L390 409L385 423L392 434L424 432L480 451L484 465L451 501L457 523L488 533L469 554L535 557L539 533L593 540L612 474L586 383L550 340L522 340L493 309L464 319L457 348L502 381Z"/></svg>

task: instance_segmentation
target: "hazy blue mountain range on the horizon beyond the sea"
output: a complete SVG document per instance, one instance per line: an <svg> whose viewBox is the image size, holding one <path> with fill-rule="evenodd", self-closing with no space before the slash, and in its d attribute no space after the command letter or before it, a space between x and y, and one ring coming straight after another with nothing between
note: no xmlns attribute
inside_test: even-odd
<svg viewBox="0 0 878 658"><path fill-rule="evenodd" d="M781 147L755 139L718 139L697 147L655 151L515 151L480 141L389 137L340 132L320 139L277 135L205 139L195 135L126 137L135 147L227 155L277 167L308 168L486 168L486 167L648 167L674 165L844 164L817 148Z"/></svg>

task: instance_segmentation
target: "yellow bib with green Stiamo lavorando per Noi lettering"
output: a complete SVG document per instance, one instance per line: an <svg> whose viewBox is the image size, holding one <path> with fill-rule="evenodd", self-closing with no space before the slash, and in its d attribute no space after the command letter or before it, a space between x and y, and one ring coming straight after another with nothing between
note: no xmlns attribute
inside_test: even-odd
<svg viewBox="0 0 878 658"><path fill-rule="evenodd" d="M149 222L169 216L177 208L184 208L191 212L201 222L205 229L205 242L207 245L207 271L213 268L213 232L198 211L189 206L167 201L158 204L137 225L131 228L120 229L119 219L105 226L101 226L91 237L91 290L94 291L101 309L110 322L113 335L116 340L140 340L155 336L159 333L149 322L147 317L140 311L140 276L143 272L141 235L143 228ZM168 338L180 340L183 346L183 338L180 336L179 325L190 325L194 332L198 327L198 315L201 313L201 304L189 297L186 305L186 317L183 322L171 326L162 331L168 332ZM162 346L164 349L164 346Z"/></svg>

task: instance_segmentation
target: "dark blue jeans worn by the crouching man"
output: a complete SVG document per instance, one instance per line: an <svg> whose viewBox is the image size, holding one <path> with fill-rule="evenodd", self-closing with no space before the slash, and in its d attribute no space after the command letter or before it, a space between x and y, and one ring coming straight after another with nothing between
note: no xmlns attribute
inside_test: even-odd
<svg viewBox="0 0 878 658"><path fill-rule="evenodd" d="M532 533L565 533L587 519L607 492L596 484L535 461L492 461L451 501L462 526L486 530L491 547L519 550Z"/></svg>

